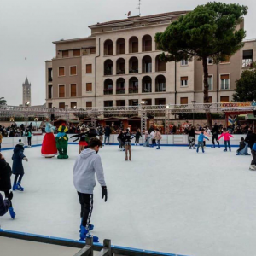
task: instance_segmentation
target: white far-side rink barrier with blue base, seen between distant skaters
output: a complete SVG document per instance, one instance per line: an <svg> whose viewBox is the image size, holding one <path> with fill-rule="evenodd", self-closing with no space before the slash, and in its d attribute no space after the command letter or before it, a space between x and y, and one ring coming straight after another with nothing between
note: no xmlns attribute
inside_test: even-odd
<svg viewBox="0 0 256 256"><path fill-rule="evenodd" d="M71 137L72 134L67 134L68 137ZM231 147L239 147L239 143L241 137L246 137L246 134L234 134L234 138L230 138ZM117 140L118 135L112 134L110 136L109 144L110 145L119 145ZM15 148L15 145L19 143L19 139L21 138L22 143L24 143L25 148L27 147L27 139L26 137L3 137L2 142L2 150L10 150ZM44 135L32 136L32 147L40 147L43 143ZM207 147L212 147L212 138L209 137L210 141L207 141ZM104 140L103 140L104 142ZM197 136L195 138L195 142L197 142ZM221 138L220 146L224 147L224 140ZM70 145L77 145L78 143L73 143L72 139L69 139ZM134 145L134 143L132 143ZM141 145L143 145L141 143ZM183 134L170 134L170 135L162 135L162 139L160 140L160 146L163 147L187 147L189 145L188 135Z"/></svg>

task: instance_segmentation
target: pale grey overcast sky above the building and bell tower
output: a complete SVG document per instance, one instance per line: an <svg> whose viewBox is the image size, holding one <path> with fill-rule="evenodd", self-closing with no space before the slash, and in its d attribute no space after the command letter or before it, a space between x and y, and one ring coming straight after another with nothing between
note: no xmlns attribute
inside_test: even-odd
<svg viewBox="0 0 256 256"><path fill-rule="evenodd" d="M247 38L256 38L255 0L224 1L249 7ZM0 97L22 103L22 83L32 83L32 105L45 102L44 61L55 55L53 41L84 38L96 22L138 15L138 0L0 0ZM206 1L142 0L142 15L194 9ZM26 58L26 60L25 60Z"/></svg>

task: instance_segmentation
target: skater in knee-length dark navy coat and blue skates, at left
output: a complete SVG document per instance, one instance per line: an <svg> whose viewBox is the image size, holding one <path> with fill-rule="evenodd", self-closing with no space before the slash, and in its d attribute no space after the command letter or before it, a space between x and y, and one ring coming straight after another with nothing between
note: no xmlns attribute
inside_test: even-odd
<svg viewBox="0 0 256 256"><path fill-rule="evenodd" d="M24 143L21 143L21 140L19 140L19 144L15 146L14 154L12 157L13 160L13 174L15 174L15 182L13 186L13 191L20 190L23 191L24 188L21 187L20 183L22 180L22 177L24 175L24 168L22 165L22 160L27 160L26 156L23 154L24 152Z"/></svg>

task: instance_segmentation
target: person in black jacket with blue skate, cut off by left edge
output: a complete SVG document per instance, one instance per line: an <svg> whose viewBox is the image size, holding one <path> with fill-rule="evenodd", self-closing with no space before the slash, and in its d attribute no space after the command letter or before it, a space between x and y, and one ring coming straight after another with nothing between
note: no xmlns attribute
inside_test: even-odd
<svg viewBox="0 0 256 256"><path fill-rule="evenodd" d="M9 166L9 163L6 162L6 160L3 157L3 154L0 153L0 191L2 191L5 195L5 198L9 198L9 194L11 193L11 177L12 175L12 170L11 167ZM9 214L11 218L15 219L15 211L14 207L12 205L11 200L9 204Z"/></svg>

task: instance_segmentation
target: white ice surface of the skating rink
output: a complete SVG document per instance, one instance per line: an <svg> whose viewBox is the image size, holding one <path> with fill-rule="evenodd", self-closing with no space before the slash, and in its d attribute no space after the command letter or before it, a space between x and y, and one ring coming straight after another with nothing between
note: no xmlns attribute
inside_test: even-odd
<svg viewBox="0 0 256 256"><path fill-rule="evenodd" d="M73 187L78 145L68 160L45 159L40 147L26 148L24 192L14 192L15 220L2 229L79 239L79 200ZM117 146L99 154L108 201L95 188L91 233L113 245L189 256L255 255L256 172L251 156L224 148L196 154L187 147L132 146L132 161ZM12 150L3 151L12 164ZM1 242L0 242L1 244Z"/></svg>

